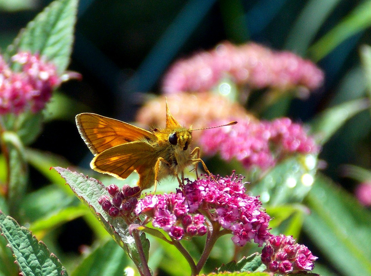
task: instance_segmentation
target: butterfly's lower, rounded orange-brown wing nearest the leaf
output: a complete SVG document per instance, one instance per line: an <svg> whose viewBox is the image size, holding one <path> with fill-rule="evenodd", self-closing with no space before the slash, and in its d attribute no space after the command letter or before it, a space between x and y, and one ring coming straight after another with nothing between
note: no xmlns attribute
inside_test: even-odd
<svg viewBox="0 0 371 276"><path fill-rule="evenodd" d="M96 155L91 167L93 170L125 179L134 170L139 174L143 169L154 168L157 155L154 147L144 141L129 142L106 149Z"/></svg>

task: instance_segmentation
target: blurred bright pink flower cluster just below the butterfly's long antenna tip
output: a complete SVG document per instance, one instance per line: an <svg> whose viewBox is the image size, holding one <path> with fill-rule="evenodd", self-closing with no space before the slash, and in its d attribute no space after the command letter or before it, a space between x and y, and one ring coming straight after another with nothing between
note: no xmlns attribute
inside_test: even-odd
<svg viewBox="0 0 371 276"><path fill-rule="evenodd" d="M216 125L224 121L216 122ZM285 154L317 153L318 145L306 134L302 125L289 118L274 121L239 121L237 125L224 128L207 129L200 138L203 154L241 161L244 167L257 166L267 169Z"/></svg>

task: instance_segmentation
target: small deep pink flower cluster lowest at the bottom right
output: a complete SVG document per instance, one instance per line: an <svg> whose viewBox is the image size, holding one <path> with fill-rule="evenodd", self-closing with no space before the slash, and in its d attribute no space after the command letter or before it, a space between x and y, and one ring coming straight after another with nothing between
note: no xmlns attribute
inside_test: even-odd
<svg viewBox="0 0 371 276"><path fill-rule="evenodd" d="M262 250L262 262L267 269L280 274L312 270L316 259L308 247L283 234L272 235Z"/></svg>

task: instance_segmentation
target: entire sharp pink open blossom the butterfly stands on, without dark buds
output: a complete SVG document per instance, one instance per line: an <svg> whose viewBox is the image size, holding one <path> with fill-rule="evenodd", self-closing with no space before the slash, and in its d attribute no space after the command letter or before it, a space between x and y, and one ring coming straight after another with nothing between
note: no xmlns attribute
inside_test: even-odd
<svg viewBox="0 0 371 276"><path fill-rule="evenodd" d="M208 214L219 227L230 230L235 244L244 246L254 240L262 246L270 236L270 217L258 197L246 194L242 179L232 175L187 180L177 193L146 195L134 213L151 218L154 227L164 229L174 239L206 234L206 218L201 213Z"/></svg>

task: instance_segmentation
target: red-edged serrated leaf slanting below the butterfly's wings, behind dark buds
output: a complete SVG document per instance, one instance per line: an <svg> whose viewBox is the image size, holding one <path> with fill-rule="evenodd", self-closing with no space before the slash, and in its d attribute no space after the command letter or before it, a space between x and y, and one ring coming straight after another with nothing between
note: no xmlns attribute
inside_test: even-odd
<svg viewBox="0 0 371 276"><path fill-rule="evenodd" d="M134 238L129 233L129 228L124 218L112 218L108 216L98 203L98 198L100 196L106 195L109 197L105 186L98 180L85 177L83 174L60 167L55 167L54 169L66 180L77 197L98 217L102 226L112 236L115 242L129 253L135 265L141 267L141 263L137 262L138 259L136 258L138 256L138 249L135 245ZM145 235L141 235L141 239L143 239L142 242L145 243L143 246L145 250L147 250L146 246L148 246L148 242L147 239L145 239ZM144 252L148 257L148 252Z"/></svg>

